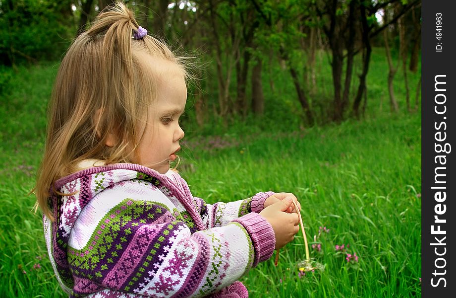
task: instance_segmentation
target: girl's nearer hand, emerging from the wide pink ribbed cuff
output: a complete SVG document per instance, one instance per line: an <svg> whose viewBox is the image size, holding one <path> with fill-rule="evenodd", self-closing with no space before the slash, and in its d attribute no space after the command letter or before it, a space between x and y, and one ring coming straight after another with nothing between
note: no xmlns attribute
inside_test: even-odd
<svg viewBox="0 0 456 298"><path fill-rule="evenodd" d="M294 235L299 231L298 215L285 212L290 206L293 206L291 202L292 198L287 197L285 200L279 200L260 212L260 215L271 224L274 230L276 249L284 247L286 243L293 240Z"/></svg>

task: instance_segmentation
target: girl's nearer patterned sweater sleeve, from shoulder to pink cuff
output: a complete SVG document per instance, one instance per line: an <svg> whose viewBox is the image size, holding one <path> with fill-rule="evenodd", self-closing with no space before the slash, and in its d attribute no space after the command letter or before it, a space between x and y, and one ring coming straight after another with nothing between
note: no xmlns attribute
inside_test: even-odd
<svg viewBox="0 0 456 298"><path fill-rule="evenodd" d="M259 214L191 234L167 196L132 183L102 191L79 215L67 248L74 294L203 297L271 257L274 231Z"/></svg>

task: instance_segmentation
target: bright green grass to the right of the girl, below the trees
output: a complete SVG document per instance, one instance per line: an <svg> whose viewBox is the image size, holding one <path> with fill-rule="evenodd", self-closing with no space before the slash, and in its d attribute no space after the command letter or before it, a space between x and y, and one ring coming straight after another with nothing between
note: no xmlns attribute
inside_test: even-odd
<svg viewBox="0 0 456 298"><path fill-rule="evenodd" d="M297 263L305 258L299 234L281 252L278 267L270 260L243 279L253 297L265 291L270 297L420 295L419 115L247 139L211 154L188 153L193 165L184 166L183 176L193 194L229 201L257 191L292 192L309 241L319 226L330 229L317 239L322 252L311 249L324 272L298 278ZM350 245L359 268L347 266L336 244Z"/></svg>

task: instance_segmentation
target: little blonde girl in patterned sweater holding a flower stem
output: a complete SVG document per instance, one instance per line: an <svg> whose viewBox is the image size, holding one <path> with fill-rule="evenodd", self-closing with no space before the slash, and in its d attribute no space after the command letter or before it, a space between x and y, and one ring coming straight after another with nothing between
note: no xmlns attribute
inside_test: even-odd
<svg viewBox="0 0 456 298"><path fill-rule="evenodd" d="M237 280L297 233L292 194L210 205L170 170L187 78L122 3L68 49L35 191L70 297L247 297Z"/></svg>

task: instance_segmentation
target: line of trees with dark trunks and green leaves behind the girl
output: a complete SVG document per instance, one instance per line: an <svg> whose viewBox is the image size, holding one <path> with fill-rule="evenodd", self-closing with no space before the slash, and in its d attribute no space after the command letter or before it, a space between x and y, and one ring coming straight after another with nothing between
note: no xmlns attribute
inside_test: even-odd
<svg viewBox="0 0 456 298"><path fill-rule="evenodd" d="M113 0L0 0L0 64L14 66L55 60ZM314 97L316 57L329 53L332 102L326 117L340 122L360 117L367 102L366 76L373 46L385 48L392 111L398 110L393 79L404 75L406 104L413 109L407 72L417 72L421 36L420 0L135 0L138 21L174 47L197 50L208 79L192 90L196 120L261 115L265 109L264 71L279 63L289 75L307 125L318 122ZM392 55L397 53L397 55ZM397 56L397 61L393 59ZM354 61L361 61L359 73ZM265 67L266 66L266 67ZM205 72L196 69L197 77ZM275 87L270 75L271 89ZM350 86L355 85L355 91ZM247 92L251 88L251 92ZM419 88L418 88L419 89ZM247 93L251 94L247 96ZM415 96L416 106L418 94Z"/></svg>

